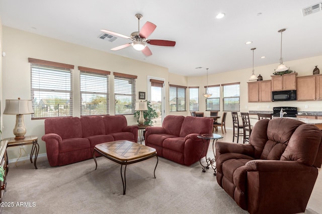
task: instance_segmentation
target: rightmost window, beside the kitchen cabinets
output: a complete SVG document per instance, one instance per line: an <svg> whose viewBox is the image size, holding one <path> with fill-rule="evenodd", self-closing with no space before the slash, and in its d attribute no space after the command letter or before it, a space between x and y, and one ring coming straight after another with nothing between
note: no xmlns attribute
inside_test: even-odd
<svg viewBox="0 0 322 214"><path fill-rule="evenodd" d="M229 83L222 84L223 86L223 110L224 111L239 111L239 84Z"/></svg>

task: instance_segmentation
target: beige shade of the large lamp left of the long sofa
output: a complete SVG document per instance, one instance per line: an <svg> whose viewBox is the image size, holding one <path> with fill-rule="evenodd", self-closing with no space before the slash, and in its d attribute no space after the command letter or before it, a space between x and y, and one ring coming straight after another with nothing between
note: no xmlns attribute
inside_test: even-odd
<svg viewBox="0 0 322 214"><path fill-rule="evenodd" d="M33 114L31 100L6 100L6 108L4 114Z"/></svg>

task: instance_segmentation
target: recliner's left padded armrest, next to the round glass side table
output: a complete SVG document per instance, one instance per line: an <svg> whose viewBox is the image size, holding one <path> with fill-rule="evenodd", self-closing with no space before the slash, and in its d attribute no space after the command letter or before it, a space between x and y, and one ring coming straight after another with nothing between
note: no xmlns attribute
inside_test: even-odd
<svg viewBox="0 0 322 214"><path fill-rule="evenodd" d="M254 156L254 146L251 144L237 144L237 143L228 143L217 141L215 143L216 147L216 155L224 154L224 153L238 153L245 154L248 156Z"/></svg>

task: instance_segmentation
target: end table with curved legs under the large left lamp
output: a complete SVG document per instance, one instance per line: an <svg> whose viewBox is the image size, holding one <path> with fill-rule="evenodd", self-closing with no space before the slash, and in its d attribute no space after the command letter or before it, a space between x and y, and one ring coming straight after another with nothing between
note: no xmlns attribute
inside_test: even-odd
<svg viewBox="0 0 322 214"><path fill-rule="evenodd" d="M10 138L5 138L3 140L8 140L7 148L12 146L22 146L22 145L32 144L31 153L30 153L30 162L32 163L32 156L35 153L34 165L35 165L35 169L37 169L36 161L37 161L38 152L39 152L39 144L38 144L37 136L25 136L24 139L15 139L14 137L10 137ZM8 161L8 158L7 158L7 161Z"/></svg>

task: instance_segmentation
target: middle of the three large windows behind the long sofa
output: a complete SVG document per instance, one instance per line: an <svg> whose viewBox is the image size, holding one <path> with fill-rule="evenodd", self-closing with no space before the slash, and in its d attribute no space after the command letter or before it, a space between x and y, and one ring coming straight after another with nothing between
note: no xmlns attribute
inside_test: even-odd
<svg viewBox="0 0 322 214"><path fill-rule="evenodd" d="M81 86L81 116L110 113L109 75L111 72L78 66Z"/></svg>

